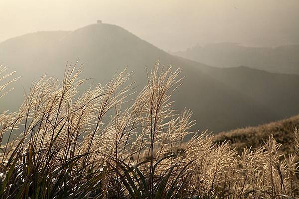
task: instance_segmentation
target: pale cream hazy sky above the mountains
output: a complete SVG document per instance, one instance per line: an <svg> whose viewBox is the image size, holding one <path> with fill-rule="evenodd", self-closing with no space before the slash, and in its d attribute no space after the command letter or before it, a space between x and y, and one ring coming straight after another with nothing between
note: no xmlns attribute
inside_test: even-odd
<svg viewBox="0 0 299 199"><path fill-rule="evenodd" d="M166 51L196 43L299 43L299 0L0 0L0 41L97 19Z"/></svg>

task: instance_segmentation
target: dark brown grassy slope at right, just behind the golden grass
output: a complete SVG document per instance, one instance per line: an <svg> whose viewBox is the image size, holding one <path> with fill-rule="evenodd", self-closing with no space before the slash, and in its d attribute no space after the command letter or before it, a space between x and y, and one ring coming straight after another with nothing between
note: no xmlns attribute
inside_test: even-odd
<svg viewBox="0 0 299 199"><path fill-rule="evenodd" d="M239 128L227 132L221 132L215 136L215 142L221 143L225 140L231 142L233 147L237 147L240 151L247 147L258 148L265 143L269 135L282 143L282 150L290 152L292 150L294 128L299 125L299 115L288 119L259 125L256 127Z"/></svg>

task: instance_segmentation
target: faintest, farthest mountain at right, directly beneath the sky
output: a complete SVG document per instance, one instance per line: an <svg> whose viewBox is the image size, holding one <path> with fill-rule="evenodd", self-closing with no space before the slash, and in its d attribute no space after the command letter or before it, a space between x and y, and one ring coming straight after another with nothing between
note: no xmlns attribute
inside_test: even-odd
<svg viewBox="0 0 299 199"><path fill-rule="evenodd" d="M299 74L299 45L272 48L215 43L172 54L216 67L248 66L275 73Z"/></svg>

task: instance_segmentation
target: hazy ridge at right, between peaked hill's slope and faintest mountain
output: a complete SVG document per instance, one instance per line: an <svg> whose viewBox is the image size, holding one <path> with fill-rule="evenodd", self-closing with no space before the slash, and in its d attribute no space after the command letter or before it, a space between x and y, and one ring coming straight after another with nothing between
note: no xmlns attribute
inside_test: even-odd
<svg viewBox="0 0 299 199"><path fill-rule="evenodd" d="M299 76L269 73L249 67L202 69L230 88L255 99L276 115L298 114Z"/></svg>

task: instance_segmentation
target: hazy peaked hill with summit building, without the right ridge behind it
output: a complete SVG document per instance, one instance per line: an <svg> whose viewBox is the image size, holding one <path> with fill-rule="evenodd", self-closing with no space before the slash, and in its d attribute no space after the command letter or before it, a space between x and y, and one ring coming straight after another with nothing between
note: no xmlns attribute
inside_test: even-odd
<svg viewBox="0 0 299 199"><path fill-rule="evenodd" d="M94 78L94 82L105 83L117 68L130 66L135 70L134 79L138 84L145 84L145 66L152 66L159 58L161 64L172 64L174 69L180 67L182 76L186 76L173 99L176 100L177 109L187 107L193 110L193 118L198 123L196 128L200 130L219 132L286 116L275 114L272 106L265 107L255 96L248 96L215 76L211 71L217 68L169 55L116 25L91 24L63 32L63 37L46 33L33 33L31 36L34 37L34 34L42 42L31 42L31 37L21 36L5 45L0 43L1 62L23 75L20 84L25 88L31 84L32 77L37 79L45 72L59 78L66 61L74 61L78 57L85 62L83 78ZM13 99L20 99L23 90L18 87L15 93L17 95ZM293 102L298 99L296 96L289 100ZM12 101L7 100L4 104L9 103ZM295 110L299 112L299 107Z"/></svg>

